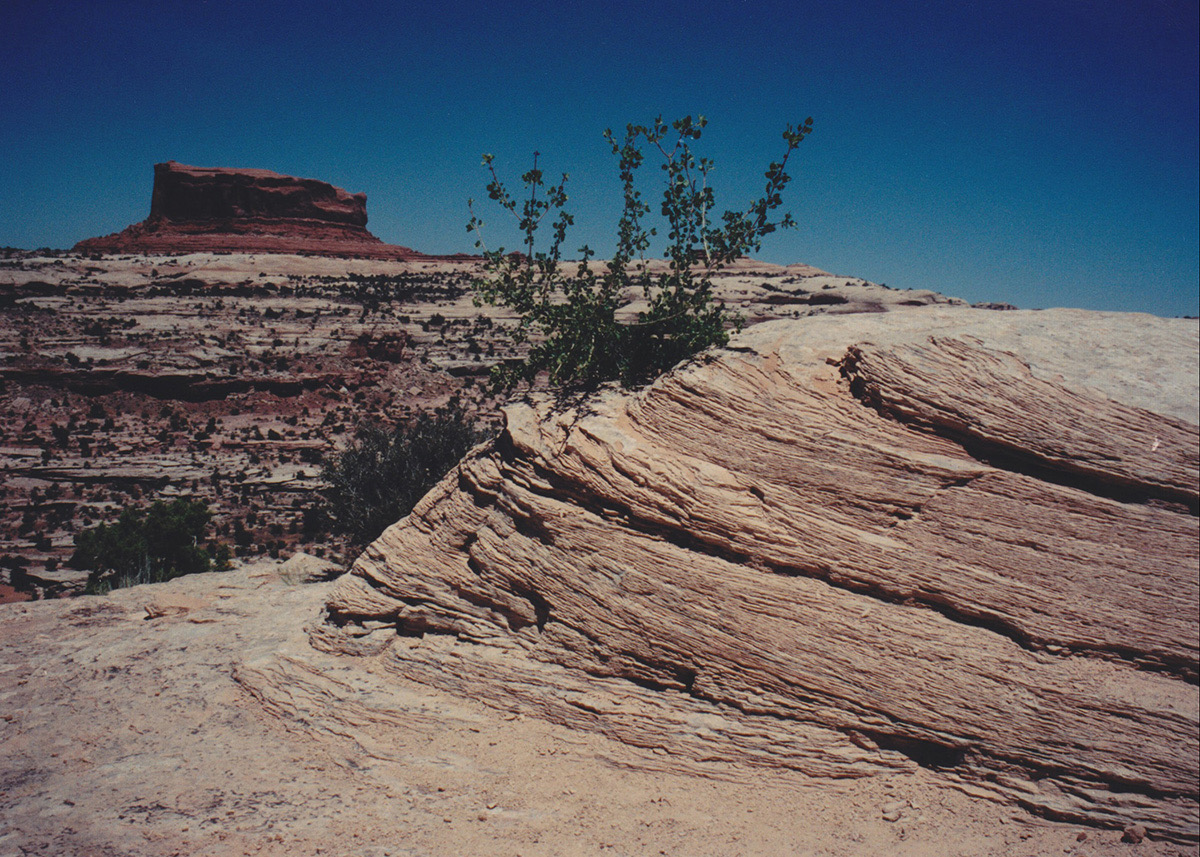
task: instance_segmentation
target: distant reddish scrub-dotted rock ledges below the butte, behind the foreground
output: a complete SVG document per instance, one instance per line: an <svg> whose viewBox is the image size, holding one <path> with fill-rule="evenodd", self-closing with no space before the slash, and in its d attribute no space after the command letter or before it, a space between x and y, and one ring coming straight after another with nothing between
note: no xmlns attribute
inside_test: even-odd
<svg viewBox="0 0 1200 857"><path fill-rule="evenodd" d="M484 379L510 346L503 314L473 304L476 274L250 253L0 259L0 597L19 597L14 573L26 593L77 589L74 535L160 497L208 502L242 557L336 553L317 477L359 422L455 395L498 421ZM748 263L719 286L750 323L950 301L802 265Z"/></svg>

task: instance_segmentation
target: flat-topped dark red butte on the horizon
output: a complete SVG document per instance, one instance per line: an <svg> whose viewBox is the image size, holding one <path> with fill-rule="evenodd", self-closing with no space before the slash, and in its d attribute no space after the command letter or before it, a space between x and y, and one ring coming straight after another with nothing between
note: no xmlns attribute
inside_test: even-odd
<svg viewBox="0 0 1200 857"><path fill-rule="evenodd" d="M422 258L367 232L367 197L269 169L156 163L150 216L79 252L253 252Z"/></svg>

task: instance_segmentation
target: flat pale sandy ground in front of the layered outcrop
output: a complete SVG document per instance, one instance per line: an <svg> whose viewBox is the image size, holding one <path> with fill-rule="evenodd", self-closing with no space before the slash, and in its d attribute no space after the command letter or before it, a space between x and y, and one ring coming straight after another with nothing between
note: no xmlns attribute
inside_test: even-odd
<svg viewBox="0 0 1200 857"><path fill-rule="evenodd" d="M972 797L636 750L311 648L246 565L0 606L0 855L1195 855Z"/></svg>

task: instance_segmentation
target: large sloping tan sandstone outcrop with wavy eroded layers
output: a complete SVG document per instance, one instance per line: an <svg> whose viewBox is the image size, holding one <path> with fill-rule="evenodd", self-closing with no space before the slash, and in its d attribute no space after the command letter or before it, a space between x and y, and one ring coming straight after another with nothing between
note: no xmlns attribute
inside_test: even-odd
<svg viewBox="0 0 1200 857"><path fill-rule="evenodd" d="M672 772L920 772L1195 843L1196 353L1192 320L928 307L510 404L313 641Z"/></svg>

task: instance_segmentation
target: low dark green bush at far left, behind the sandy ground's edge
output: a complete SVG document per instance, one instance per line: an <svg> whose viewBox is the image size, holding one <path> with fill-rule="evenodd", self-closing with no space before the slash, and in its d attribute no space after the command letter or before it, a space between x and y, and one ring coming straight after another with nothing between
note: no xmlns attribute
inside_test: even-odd
<svg viewBox="0 0 1200 857"><path fill-rule="evenodd" d="M158 583L185 574L224 570L227 545L204 545L212 514L200 501L158 501L128 508L116 523L97 525L76 537L70 564L88 569L85 592L101 594L137 583Z"/></svg>

